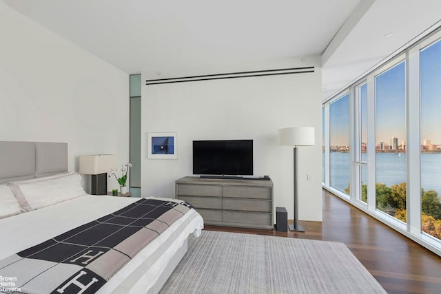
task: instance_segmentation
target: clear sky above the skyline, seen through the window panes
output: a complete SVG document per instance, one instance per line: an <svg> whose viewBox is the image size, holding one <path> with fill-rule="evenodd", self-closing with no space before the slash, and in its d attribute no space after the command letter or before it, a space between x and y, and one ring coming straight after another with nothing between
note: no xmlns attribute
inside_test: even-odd
<svg viewBox="0 0 441 294"><path fill-rule="evenodd" d="M389 144L398 138L406 140L406 76L405 62L390 68L375 78L376 143ZM431 140L441 145L441 41L421 50L421 142ZM366 139L366 85L360 87L362 100L362 140ZM349 95L342 96L329 107L331 145L349 143Z"/></svg>

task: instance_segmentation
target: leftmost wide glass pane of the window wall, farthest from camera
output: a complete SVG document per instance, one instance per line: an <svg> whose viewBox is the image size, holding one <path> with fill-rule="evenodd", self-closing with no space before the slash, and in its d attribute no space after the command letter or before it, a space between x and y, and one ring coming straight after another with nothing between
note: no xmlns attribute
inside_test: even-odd
<svg viewBox="0 0 441 294"><path fill-rule="evenodd" d="M349 94L329 105L329 185L349 195Z"/></svg>

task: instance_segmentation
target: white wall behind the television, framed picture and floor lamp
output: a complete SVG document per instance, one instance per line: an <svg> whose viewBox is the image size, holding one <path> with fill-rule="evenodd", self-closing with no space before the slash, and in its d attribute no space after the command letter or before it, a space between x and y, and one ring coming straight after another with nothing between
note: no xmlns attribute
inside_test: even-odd
<svg viewBox="0 0 441 294"><path fill-rule="evenodd" d="M316 72L143 85L142 195L174 197L175 180L192 175L192 140L251 138L254 176L271 177L274 207L286 207L292 218L293 149L278 146L277 134L282 127L310 126L316 146L299 147L299 219L321 221L321 69L320 59L308 60L283 67L314 65ZM148 159L148 132L177 132L178 159Z"/></svg>

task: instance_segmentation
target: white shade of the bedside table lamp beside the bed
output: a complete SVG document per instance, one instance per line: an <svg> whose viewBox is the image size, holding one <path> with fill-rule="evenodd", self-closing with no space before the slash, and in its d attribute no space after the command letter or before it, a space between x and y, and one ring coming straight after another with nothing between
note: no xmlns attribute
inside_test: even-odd
<svg viewBox="0 0 441 294"><path fill-rule="evenodd" d="M104 174L115 169L116 155L99 154L99 155L82 155L80 156L80 174L98 175Z"/></svg>

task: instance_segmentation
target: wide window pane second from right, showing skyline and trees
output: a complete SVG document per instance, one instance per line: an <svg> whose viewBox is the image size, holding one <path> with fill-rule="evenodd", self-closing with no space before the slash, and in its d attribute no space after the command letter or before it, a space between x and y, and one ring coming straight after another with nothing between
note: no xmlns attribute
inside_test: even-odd
<svg viewBox="0 0 441 294"><path fill-rule="evenodd" d="M376 207L406 221L405 62L375 78Z"/></svg>

